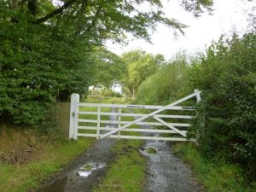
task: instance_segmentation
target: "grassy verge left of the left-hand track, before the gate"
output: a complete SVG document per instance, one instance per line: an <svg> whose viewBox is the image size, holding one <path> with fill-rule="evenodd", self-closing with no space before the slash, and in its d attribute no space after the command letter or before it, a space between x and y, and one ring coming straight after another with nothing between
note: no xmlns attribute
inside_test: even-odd
<svg viewBox="0 0 256 192"><path fill-rule="evenodd" d="M36 189L40 183L61 170L94 142L81 138L78 142L57 141L40 143L40 149L26 164L7 165L0 163L0 191L25 192Z"/></svg>

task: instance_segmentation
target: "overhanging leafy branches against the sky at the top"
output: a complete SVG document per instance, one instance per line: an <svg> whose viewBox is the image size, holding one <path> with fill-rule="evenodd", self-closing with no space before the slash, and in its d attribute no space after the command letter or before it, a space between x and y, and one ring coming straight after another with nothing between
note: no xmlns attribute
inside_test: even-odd
<svg viewBox="0 0 256 192"><path fill-rule="evenodd" d="M198 2L204 4L201 1ZM148 3L152 9L143 9L145 3ZM39 6L42 3L36 4ZM25 3L23 5L25 7ZM96 44L102 44L102 41L108 38L122 42L125 39L125 32L149 41L149 31L154 31L159 22L179 32L183 32L185 27L177 20L166 18L160 1L154 0L62 1L61 5L44 11L44 15L37 16L33 22L55 24L56 19L59 18L65 20L65 24L62 24L70 30L90 38L90 43Z"/></svg>

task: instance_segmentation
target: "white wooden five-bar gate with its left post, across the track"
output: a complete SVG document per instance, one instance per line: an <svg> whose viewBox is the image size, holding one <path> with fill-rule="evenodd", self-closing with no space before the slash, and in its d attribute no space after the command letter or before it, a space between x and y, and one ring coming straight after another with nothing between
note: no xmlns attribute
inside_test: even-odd
<svg viewBox="0 0 256 192"><path fill-rule="evenodd" d="M193 97L200 102L200 94L201 91L195 90L193 94L166 106L85 103L79 102L78 94L73 94L69 138L113 137L196 142L193 138L187 138L189 121L195 117L196 109L177 104ZM167 129L160 128L162 126Z"/></svg>

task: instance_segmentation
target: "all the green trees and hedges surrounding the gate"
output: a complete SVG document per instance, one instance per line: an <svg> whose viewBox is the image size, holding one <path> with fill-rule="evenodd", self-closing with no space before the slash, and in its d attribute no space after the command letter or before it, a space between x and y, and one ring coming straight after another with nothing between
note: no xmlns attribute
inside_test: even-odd
<svg viewBox="0 0 256 192"><path fill-rule="evenodd" d="M146 3L154 9L141 10ZM200 16L212 1L180 1ZM186 26L166 18L158 0L1 0L0 121L42 132L55 129L52 103L89 94L89 86L108 90L121 84L138 103L166 104L202 91L199 150L217 162L243 167L256 177L256 26L244 35L220 37L206 54L163 55L132 50L115 55L104 42L125 43L125 34L150 41L157 23L183 34ZM204 121L204 124L201 122Z"/></svg>

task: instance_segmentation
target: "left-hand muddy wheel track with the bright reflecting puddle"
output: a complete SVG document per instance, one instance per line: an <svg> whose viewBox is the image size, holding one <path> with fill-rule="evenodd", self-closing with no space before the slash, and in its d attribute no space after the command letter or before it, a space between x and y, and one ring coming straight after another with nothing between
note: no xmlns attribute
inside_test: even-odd
<svg viewBox="0 0 256 192"><path fill-rule="evenodd" d="M112 112L115 112L112 109ZM111 116L110 120L115 120ZM107 125L113 126L113 125ZM108 165L114 160L111 148L116 142L113 138L98 140L88 151L74 160L57 177L44 183L37 192L89 192L105 176Z"/></svg>

